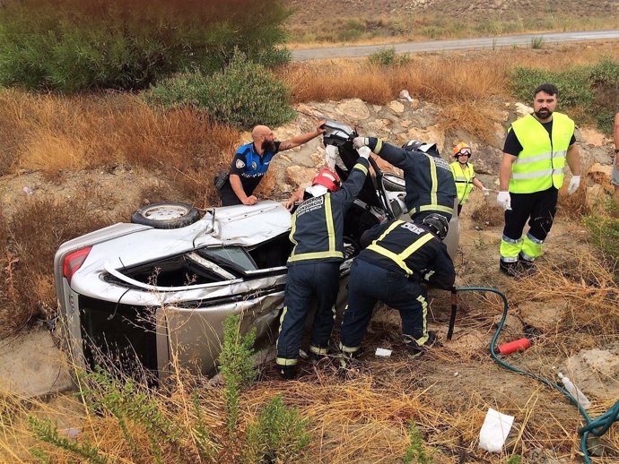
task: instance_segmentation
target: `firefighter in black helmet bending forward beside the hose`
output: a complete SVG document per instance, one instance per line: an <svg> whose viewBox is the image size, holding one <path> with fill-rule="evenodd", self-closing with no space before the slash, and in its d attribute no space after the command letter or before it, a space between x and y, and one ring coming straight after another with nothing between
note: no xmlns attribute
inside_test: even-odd
<svg viewBox="0 0 619 464"><path fill-rule="evenodd" d="M378 301L397 309L409 356L419 357L436 341L428 331L425 285L449 290L456 279L443 243L449 221L432 212L414 222L392 219L363 233L367 245L354 260L348 284L348 305L340 328L344 356L361 353L362 339ZM380 285L377 285L377 282Z"/></svg>

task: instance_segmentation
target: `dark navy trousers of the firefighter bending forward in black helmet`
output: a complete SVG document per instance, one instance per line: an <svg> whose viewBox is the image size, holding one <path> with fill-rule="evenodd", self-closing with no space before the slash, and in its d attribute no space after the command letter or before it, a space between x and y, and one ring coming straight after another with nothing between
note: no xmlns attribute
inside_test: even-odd
<svg viewBox="0 0 619 464"><path fill-rule="evenodd" d="M414 340L423 345L428 339L426 300L425 288L416 280L408 279L403 272L354 260L348 283L348 305L340 329L342 349L355 353L361 348L377 301L400 312L405 342Z"/></svg>

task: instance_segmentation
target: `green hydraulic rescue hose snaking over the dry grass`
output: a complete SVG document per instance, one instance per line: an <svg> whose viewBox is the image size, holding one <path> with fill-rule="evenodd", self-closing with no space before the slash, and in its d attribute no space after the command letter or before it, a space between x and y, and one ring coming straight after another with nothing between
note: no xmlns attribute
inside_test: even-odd
<svg viewBox="0 0 619 464"><path fill-rule="evenodd" d="M619 422L619 400L617 400L615 405L612 408L608 409L606 413L604 413L602 416L597 417L596 419L591 419L591 417L588 416L585 408L582 408L582 406L579 404L578 400L576 400L573 396L571 396L570 392L563 389L558 383L550 382L540 375L533 374L527 371L523 371L522 369L519 369L518 367L514 365L510 365L506 363L505 361L503 361L502 359L500 359L499 357L497 357L496 352L494 351L494 345L496 344L496 340L499 339L499 334L501 333L503 324L505 323L505 319L507 318L507 311L508 311L507 298L496 288L456 287L453 289L453 293L455 293L456 296L454 297L452 293L452 305L457 304L457 303L454 303L454 301L457 302L458 292L471 292L471 291L491 292L498 296L501 296L501 299L503 300L503 315L501 317L501 322L499 322L499 326L494 332L493 339L490 342L491 356L499 365L501 365L501 367L504 367L505 369L509 369L510 371L515 372L515 373L528 375L529 377L535 379L537 382L542 382L549 387L552 387L558 391L561 391L562 394L568 398L568 400L570 400L574 405L576 405L576 407L580 411L580 414L582 415L582 417L585 418L585 421L587 422L587 425L580 427L578 431L580 435L580 450L582 451L582 459L585 461L586 464L592 464L590 458L588 457L588 450L587 450L588 435L594 434L595 436L601 436L603 434L606 434L606 431L610 428L611 425L613 425L614 422ZM452 310L451 319L452 321L455 319L455 312L453 310ZM452 325L452 323L453 322L451 322L450 325Z"/></svg>

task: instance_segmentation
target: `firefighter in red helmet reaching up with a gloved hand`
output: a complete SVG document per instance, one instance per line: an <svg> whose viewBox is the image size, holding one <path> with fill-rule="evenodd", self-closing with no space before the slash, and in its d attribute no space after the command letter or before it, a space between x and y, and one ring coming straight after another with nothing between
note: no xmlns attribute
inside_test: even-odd
<svg viewBox="0 0 619 464"><path fill-rule="evenodd" d="M283 313L277 338L275 367L284 378L297 374L299 349L309 305L316 298L316 314L309 339L309 353L327 355L335 319L339 269L344 261L344 216L361 192L368 174L370 149L358 150L359 159L344 183L337 174L322 168L311 186L284 203L303 202L292 215L290 239L294 245L288 258L288 277Z"/></svg>

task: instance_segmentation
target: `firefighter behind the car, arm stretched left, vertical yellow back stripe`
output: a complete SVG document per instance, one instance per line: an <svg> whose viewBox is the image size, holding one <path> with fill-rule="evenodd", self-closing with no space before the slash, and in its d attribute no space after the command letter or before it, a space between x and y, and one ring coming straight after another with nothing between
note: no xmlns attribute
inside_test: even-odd
<svg viewBox="0 0 619 464"><path fill-rule="evenodd" d="M370 149L404 172L405 205L412 219L438 212L451 219L456 203L456 184L449 163L440 158L436 143L409 141L397 148L376 137L356 137L354 148Z"/></svg>

